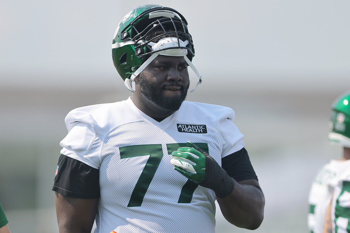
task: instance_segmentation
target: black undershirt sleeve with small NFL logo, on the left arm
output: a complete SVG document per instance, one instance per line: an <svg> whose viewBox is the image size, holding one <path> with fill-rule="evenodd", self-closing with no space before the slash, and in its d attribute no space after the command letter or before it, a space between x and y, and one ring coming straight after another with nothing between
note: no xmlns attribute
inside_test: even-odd
<svg viewBox="0 0 350 233"><path fill-rule="evenodd" d="M75 198L100 197L98 169L61 154L56 173L53 191Z"/></svg>

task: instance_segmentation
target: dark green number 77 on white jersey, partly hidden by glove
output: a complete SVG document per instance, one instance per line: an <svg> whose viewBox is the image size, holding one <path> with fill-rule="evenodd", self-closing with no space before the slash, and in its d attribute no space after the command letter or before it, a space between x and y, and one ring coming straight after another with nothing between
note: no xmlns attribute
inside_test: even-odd
<svg viewBox="0 0 350 233"><path fill-rule="evenodd" d="M207 143L196 143L203 151L209 152ZM172 143L167 144L168 154L172 154L179 147L186 147L186 143ZM119 147L120 159L131 158L142 155L149 155L147 163L142 170L142 173L137 181L134 190L132 191L128 207L141 206L144 200L145 194L151 184L154 174L159 166L160 161L163 158L163 150L161 144L149 144L149 145L132 145ZM190 203L193 197L193 192L197 188L198 184L191 180L183 185L179 196L178 203Z"/></svg>

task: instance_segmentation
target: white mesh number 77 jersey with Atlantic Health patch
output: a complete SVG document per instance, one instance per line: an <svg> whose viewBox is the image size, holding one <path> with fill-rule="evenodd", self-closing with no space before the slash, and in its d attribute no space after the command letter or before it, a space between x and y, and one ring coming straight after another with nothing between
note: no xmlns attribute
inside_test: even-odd
<svg viewBox="0 0 350 233"><path fill-rule="evenodd" d="M191 141L221 158L244 147L231 108L184 101L161 122L131 99L71 111L61 153L99 169L95 233L215 232L214 191L171 165L172 152Z"/></svg>

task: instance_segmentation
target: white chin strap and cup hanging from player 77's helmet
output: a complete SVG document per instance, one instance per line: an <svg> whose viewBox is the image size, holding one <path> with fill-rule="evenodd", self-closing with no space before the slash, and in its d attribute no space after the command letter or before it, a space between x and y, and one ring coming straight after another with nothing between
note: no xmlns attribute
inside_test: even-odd
<svg viewBox="0 0 350 233"><path fill-rule="evenodd" d="M152 43L149 42L150 45L152 46L153 51L161 50L161 49L166 49L167 50L162 50L159 52L155 52L149 57L138 69L135 71L130 79L125 79L124 84L125 86L134 92L135 90L135 79L136 77L158 56L158 55L164 55L164 56L175 56L175 57L184 57L185 61L187 64L191 67L191 69L195 72L195 74L198 76L199 81L197 82L196 86L193 88L193 90L190 90L190 93L194 92L194 90L197 88L198 85L202 83L202 76L198 73L196 67L191 63L191 61L188 59L187 55L187 49L181 49L179 47L186 47L188 44L188 41L181 41L179 39L180 45L177 43L177 38L176 37L167 37L164 39L161 39L158 43ZM174 48L175 47L175 48Z"/></svg>

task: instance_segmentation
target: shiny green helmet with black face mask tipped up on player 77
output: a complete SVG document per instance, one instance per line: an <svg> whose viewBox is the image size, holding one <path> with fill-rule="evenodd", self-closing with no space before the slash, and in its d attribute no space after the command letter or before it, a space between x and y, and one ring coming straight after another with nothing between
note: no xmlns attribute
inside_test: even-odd
<svg viewBox="0 0 350 233"><path fill-rule="evenodd" d="M135 90L135 78L159 54L183 56L200 79L196 87L202 82L191 63L195 50L186 19L172 8L139 6L120 21L112 42L113 64L129 90Z"/></svg>

